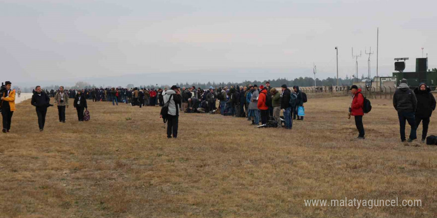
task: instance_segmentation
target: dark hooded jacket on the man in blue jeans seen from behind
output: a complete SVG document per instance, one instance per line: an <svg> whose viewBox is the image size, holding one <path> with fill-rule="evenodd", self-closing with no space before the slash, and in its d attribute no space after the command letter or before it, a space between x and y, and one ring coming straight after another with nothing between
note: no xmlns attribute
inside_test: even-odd
<svg viewBox="0 0 437 218"><path fill-rule="evenodd" d="M415 112L417 99L414 92L408 87L406 80L402 80L393 95L393 107L398 112Z"/></svg>

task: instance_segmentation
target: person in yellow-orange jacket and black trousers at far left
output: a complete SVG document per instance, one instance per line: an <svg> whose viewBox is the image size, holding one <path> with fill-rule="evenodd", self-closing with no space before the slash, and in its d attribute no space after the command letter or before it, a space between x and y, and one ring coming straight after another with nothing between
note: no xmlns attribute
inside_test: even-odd
<svg viewBox="0 0 437 218"><path fill-rule="evenodd" d="M1 96L1 116L3 117L3 133L9 132L13 111L15 111L15 91L10 90L11 82L6 81L3 95Z"/></svg>

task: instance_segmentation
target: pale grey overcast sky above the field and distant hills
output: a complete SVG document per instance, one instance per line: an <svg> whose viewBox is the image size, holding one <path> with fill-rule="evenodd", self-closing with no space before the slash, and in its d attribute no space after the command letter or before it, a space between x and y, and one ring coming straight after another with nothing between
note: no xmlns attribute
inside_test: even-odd
<svg viewBox="0 0 437 218"><path fill-rule="evenodd" d="M391 75L395 57L410 57L406 71L414 71L422 47L431 68L437 66L436 2L0 0L0 80L160 73L159 82L140 82L154 84L166 72L241 69L264 70L256 78L240 73L247 80L290 79L313 76L313 62L317 77L326 78L335 76L335 46L340 77L355 73L352 47L363 51L359 74L366 75L364 50L371 46L374 76L377 27L381 75Z"/></svg>

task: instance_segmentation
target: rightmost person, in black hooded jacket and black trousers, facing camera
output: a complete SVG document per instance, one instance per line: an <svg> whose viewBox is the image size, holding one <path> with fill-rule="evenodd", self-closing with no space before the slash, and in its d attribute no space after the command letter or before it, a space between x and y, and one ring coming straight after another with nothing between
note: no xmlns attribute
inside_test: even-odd
<svg viewBox="0 0 437 218"><path fill-rule="evenodd" d="M417 109L415 113L416 126L419 127L422 121L422 142L425 142L428 134L428 125L430 124L430 117L434 109L436 109L436 99L431 93L431 89L427 84L421 83L418 88L414 90L417 99Z"/></svg>

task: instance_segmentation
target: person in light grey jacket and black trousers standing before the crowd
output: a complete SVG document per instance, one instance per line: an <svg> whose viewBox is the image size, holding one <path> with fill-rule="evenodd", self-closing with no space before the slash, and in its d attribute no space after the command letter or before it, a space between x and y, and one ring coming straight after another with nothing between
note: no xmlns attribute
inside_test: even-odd
<svg viewBox="0 0 437 218"><path fill-rule="evenodd" d="M170 99L171 97L171 99ZM179 124L179 105L181 104L181 95L177 86L173 85L163 96L164 104L168 102L167 115L167 138L177 138ZM170 100L170 101L169 101Z"/></svg>

